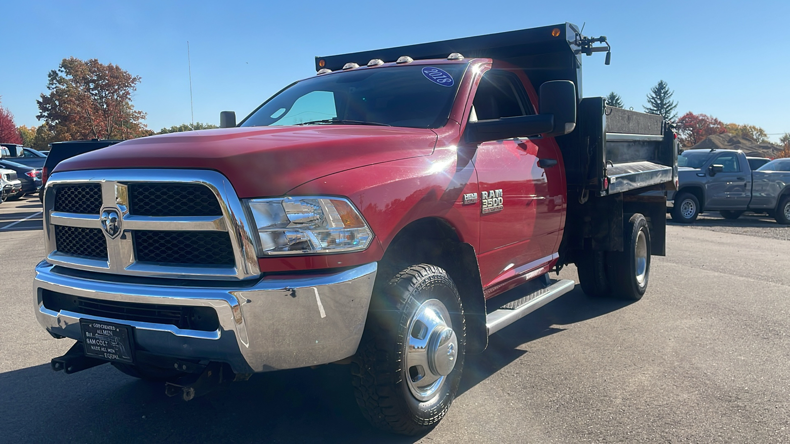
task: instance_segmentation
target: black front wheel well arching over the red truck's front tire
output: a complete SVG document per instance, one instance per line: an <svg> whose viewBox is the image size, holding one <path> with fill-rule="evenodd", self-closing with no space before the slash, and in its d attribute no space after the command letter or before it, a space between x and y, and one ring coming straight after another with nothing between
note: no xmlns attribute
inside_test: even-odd
<svg viewBox="0 0 790 444"><path fill-rule="evenodd" d="M474 247L461 242L446 220L438 217L415 220L401 229L387 246L379 262L376 284L383 284L409 265L421 263L436 265L450 274L464 307L467 352L483 352L488 344L486 303Z"/></svg>

